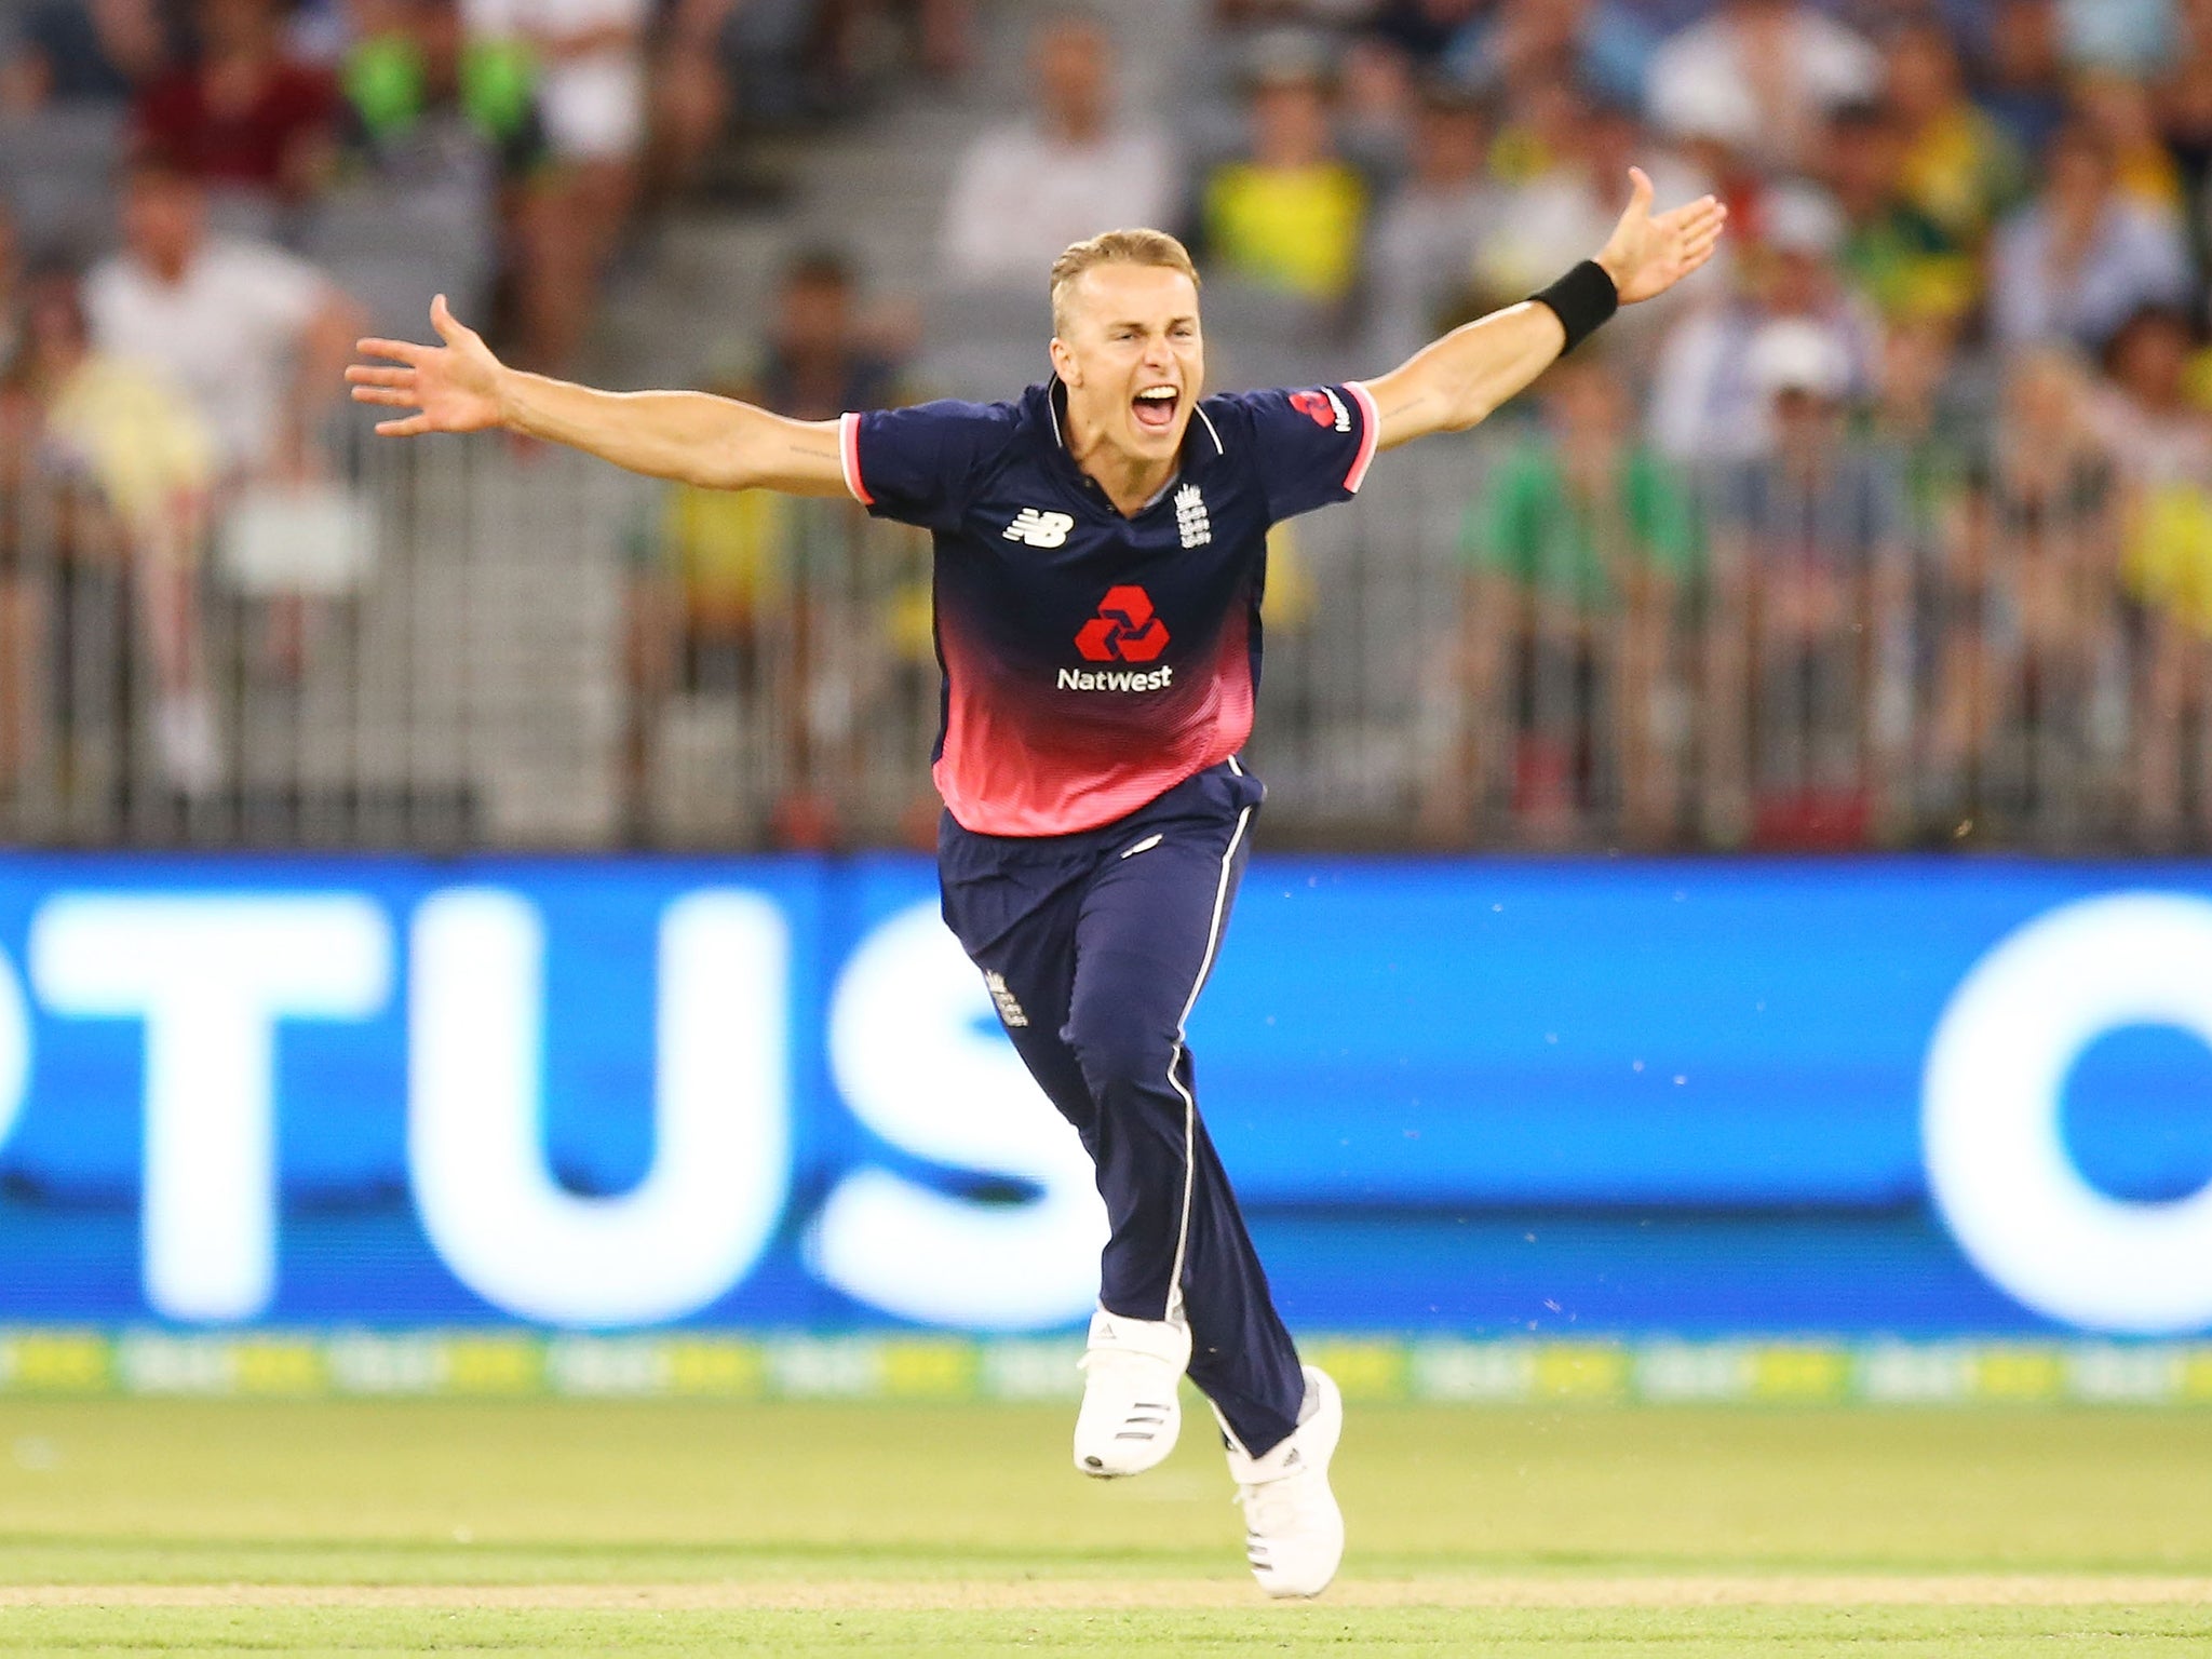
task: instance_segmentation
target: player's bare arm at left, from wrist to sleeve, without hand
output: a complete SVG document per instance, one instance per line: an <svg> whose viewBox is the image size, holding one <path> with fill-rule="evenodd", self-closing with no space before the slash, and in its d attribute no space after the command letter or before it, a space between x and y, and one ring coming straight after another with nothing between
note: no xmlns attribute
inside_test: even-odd
<svg viewBox="0 0 2212 1659"><path fill-rule="evenodd" d="M595 392L542 374L500 376L511 431L633 473L708 489L841 491L836 431L706 392Z"/></svg>

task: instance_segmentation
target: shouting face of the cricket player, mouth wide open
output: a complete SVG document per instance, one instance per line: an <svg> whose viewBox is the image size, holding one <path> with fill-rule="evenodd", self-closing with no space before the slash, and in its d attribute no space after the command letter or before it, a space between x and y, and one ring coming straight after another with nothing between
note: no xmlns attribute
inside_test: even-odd
<svg viewBox="0 0 2212 1659"><path fill-rule="evenodd" d="M1206 385L1197 285L1164 265L1093 265L1068 292L1053 367L1079 427L1139 460L1175 460Z"/></svg>

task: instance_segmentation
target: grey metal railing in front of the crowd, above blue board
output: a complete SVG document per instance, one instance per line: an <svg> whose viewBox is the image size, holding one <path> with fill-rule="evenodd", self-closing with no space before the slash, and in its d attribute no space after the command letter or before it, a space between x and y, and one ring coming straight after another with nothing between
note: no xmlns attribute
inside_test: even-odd
<svg viewBox="0 0 2212 1659"><path fill-rule="evenodd" d="M929 551L858 509L429 440L135 533L4 462L4 841L931 832ZM1624 467L1438 440L1276 533L1272 845L2212 845L2212 507Z"/></svg>

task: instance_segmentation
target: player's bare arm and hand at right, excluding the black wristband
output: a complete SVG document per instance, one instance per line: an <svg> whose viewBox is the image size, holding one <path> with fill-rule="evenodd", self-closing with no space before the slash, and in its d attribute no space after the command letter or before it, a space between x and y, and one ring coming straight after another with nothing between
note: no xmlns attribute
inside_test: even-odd
<svg viewBox="0 0 2212 1659"><path fill-rule="evenodd" d="M1597 254L1621 305L1663 294L1712 259L1728 208L1699 197L1668 212L1652 212L1652 181L1628 170L1628 210ZM1378 447L1396 449L1431 431L1464 431L1526 387L1566 349L1566 325L1551 305L1522 301L1491 312L1402 365L1369 380L1383 416Z"/></svg>

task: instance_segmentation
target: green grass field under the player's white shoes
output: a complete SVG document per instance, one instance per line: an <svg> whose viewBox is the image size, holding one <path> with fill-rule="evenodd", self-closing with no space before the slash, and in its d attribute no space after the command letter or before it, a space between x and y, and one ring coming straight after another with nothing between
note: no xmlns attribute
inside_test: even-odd
<svg viewBox="0 0 2212 1659"><path fill-rule="evenodd" d="M0 1599L0 1655L2212 1650L2212 1604L1464 1606L1495 1582L2212 1579L2212 1413L1356 1407L1352 1553L1314 1606L1250 1590L1186 1422L1168 1467L1093 1484L1057 1407L0 1400L0 1586L447 1586Z"/></svg>

